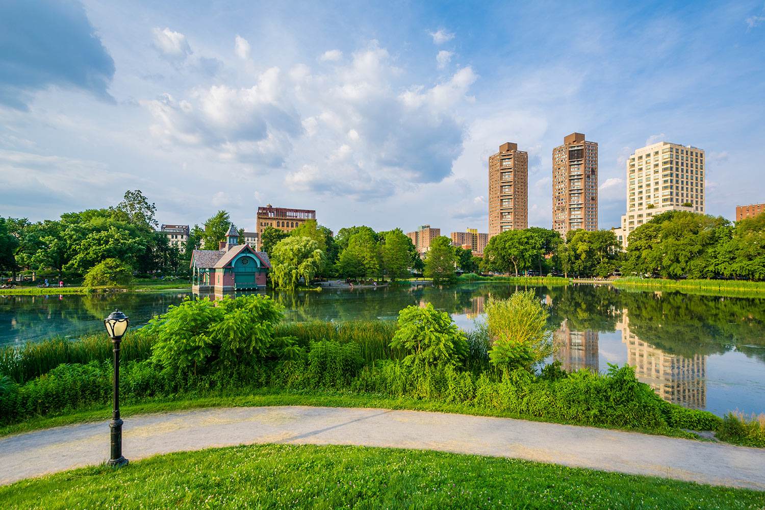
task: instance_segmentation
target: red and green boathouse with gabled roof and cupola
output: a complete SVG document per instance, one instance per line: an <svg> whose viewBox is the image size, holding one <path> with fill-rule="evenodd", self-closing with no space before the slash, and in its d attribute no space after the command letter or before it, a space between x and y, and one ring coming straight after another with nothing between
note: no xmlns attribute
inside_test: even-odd
<svg viewBox="0 0 765 510"><path fill-rule="evenodd" d="M191 252L191 289L195 292L247 291L265 288L271 269L269 255L249 245L239 245L232 225L217 250Z"/></svg>

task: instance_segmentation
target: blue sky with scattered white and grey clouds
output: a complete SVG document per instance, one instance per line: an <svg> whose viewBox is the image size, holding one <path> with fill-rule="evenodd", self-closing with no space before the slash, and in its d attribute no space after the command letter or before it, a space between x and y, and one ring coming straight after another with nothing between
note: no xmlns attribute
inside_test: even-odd
<svg viewBox="0 0 765 510"><path fill-rule="evenodd" d="M552 227L552 149L599 146L599 226L626 161L707 154L707 213L765 202L765 3L0 4L0 216L142 190L168 224L258 206L318 223L488 230L488 158L529 153Z"/></svg>

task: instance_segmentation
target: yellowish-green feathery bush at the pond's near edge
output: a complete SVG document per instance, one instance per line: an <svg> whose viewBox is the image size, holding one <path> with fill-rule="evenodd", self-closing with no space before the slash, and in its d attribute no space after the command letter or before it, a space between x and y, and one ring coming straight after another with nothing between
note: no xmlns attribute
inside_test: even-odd
<svg viewBox="0 0 765 510"><path fill-rule="evenodd" d="M533 291L516 292L506 300L490 297L484 311L483 329L492 340L489 357L503 372L532 371L552 355L552 334L547 327L549 311Z"/></svg>

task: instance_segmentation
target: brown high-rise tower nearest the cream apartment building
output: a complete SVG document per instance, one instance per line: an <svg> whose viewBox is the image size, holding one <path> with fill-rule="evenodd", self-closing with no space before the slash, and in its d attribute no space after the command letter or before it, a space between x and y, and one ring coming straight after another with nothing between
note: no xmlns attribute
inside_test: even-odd
<svg viewBox="0 0 765 510"><path fill-rule="evenodd" d="M552 150L552 229L597 230L597 143L581 133Z"/></svg>

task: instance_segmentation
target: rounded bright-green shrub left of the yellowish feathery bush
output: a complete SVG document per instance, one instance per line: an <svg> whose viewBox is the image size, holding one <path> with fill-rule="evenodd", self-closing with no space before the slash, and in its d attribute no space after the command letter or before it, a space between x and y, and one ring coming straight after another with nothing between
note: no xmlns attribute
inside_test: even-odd
<svg viewBox="0 0 765 510"><path fill-rule="evenodd" d="M425 308L410 306L399 312L399 330L390 346L407 352L407 364L458 365L467 352L467 338L448 313L428 303Z"/></svg>

